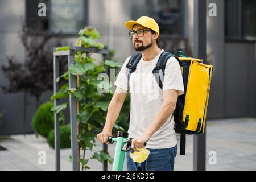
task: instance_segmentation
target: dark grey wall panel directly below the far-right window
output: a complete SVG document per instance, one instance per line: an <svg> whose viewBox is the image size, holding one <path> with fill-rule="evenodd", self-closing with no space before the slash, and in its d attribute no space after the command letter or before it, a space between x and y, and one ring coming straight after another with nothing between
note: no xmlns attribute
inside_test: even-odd
<svg viewBox="0 0 256 182"><path fill-rule="evenodd" d="M225 43L225 116L256 115L255 42Z"/></svg>

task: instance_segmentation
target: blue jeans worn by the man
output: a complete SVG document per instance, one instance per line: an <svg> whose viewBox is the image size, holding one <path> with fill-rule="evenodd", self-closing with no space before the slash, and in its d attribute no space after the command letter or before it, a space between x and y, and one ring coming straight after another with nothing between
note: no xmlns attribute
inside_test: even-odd
<svg viewBox="0 0 256 182"><path fill-rule="evenodd" d="M126 152L127 171L173 171L174 159L177 155L177 145L172 148L150 149L150 155L143 163L135 163Z"/></svg>

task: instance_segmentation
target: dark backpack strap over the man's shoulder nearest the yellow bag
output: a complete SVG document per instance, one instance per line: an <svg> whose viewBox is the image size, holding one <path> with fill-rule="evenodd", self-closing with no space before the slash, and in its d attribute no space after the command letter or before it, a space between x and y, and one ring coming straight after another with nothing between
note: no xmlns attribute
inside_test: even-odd
<svg viewBox="0 0 256 182"><path fill-rule="evenodd" d="M156 64L156 67L152 71L152 73L155 76L156 82L158 83L161 89L163 89L164 70L166 69L166 63L168 59L170 59L170 57L172 56L174 55L172 55L170 52L166 52L166 51L162 52L158 59L158 63ZM179 59L177 60L179 61Z"/></svg>

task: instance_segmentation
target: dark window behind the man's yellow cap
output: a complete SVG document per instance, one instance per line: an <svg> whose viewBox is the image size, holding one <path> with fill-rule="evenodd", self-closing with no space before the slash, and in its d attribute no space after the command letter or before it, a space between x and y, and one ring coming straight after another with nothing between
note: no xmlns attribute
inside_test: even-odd
<svg viewBox="0 0 256 182"><path fill-rule="evenodd" d="M158 22L161 36L181 36L182 12L181 0L144 0L134 1L133 19L146 15Z"/></svg>

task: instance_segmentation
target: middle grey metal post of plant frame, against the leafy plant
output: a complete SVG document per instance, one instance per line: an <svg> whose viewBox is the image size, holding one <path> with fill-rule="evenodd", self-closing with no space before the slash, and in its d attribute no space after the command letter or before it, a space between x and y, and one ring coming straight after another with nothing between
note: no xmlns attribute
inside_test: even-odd
<svg viewBox="0 0 256 182"><path fill-rule="evenodd" d="M68 56L68 68L75 63L75 56ZM76 88L76 78L71 73L68 73L69 89ZM72 150L72 170L79 169L79 156L77 154L77 122L76 122L76 98L69 96L69 111L71 125L71 150Z"/></svg>

